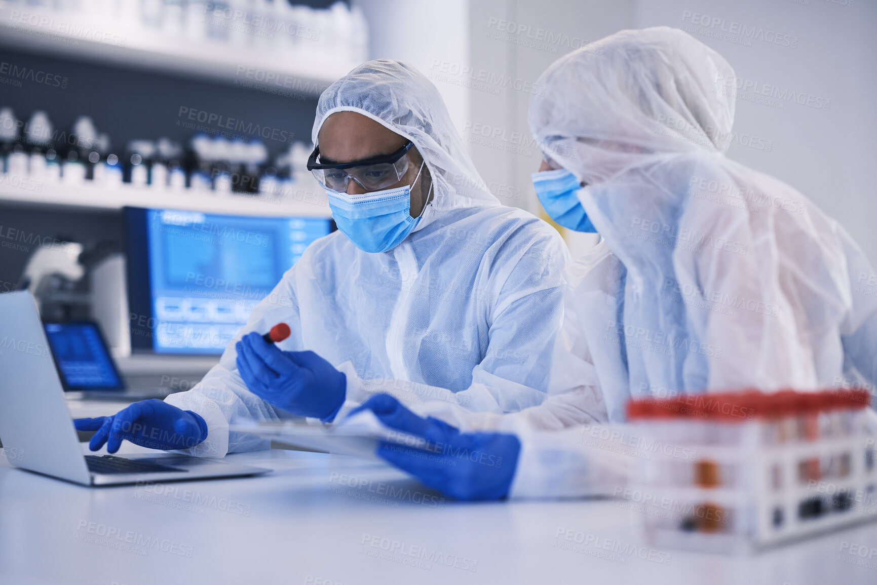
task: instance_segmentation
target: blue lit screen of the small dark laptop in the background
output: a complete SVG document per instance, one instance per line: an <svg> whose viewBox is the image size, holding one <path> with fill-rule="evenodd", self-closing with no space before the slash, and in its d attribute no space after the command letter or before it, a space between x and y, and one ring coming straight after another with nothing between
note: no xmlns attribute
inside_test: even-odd
<svg viewBox="0 0 877 585"><path fill-rule="evenodd" d="M95 323L46 323L44 326L64 389L125 388Z"/></svg>

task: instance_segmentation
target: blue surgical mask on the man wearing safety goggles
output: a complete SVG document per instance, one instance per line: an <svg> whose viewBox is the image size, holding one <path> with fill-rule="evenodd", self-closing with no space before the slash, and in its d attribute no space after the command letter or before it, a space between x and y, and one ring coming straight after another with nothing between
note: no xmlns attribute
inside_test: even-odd
<svg viewBox="0 0 877 585"><path fill-rule="evenodd" d="M423 168L421 163L417 177ZM417 177L411 185L417 182ZM326 189L332 218L347 239L363 252L386 252L398 246L420 221L420 217L411 217L411 185L361 195Z"/></svg>

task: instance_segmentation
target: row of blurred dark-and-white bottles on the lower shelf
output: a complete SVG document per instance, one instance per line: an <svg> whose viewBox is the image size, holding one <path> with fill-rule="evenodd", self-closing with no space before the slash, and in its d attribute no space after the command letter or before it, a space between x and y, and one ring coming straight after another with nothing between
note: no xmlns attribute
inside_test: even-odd
<svg viewBox="0 0 877 585"><path fill-rule="evenodd" d="M94 188L109 196L116 189L132 187L160 193L190 189L289 198L303 191L318 196L323 190L305 168L313 145L291 141L292 132L282 132L284 144L290 140L289 147L271 161L260 139L235 135L227 139L225 132L214 136L198 132L185 149L168 138L135 139L117 153L110 136L98 133L88 116L76 118L70 132L59 137L45 111L33 111L23 123L6 107L0 110L0 130L4 127L11 130L0 132L0 172L15 177L18 185L39 185L40 191L46 185L62 184Z"/></svg>

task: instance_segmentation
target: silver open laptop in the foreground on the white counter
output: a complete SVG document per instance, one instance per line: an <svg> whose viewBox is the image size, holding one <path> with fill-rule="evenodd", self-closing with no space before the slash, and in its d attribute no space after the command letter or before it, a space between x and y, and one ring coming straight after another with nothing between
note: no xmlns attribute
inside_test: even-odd
<svg viewBox="0 0 877 585"><path fill-rule="evenodd" d="M269 469L156 452L84 455L37 304L30 292L0 295L0 440L7 460L88 486L235 477Z"/></svg>

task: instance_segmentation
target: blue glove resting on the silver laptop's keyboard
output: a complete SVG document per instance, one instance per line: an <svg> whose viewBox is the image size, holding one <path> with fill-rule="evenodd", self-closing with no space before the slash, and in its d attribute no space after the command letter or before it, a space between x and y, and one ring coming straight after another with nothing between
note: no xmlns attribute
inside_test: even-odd
<svg viewBox="0 0 877 585"><path fill-rule="evenodd" d="M207 439L207 423L200 415L155 398L111 417L76 418L73 424L77 431L96 431L89 449L97 451L106 443L109 453L118 451L122 439L150 449L188 449Z"/></svg>

